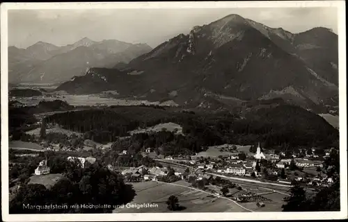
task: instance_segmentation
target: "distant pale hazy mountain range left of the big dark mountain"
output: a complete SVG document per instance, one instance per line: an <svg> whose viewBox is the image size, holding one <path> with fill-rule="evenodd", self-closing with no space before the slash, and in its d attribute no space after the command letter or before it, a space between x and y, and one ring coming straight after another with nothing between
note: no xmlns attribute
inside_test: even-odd
<svg viewBox="0 0 348 222"><path fill-rule="evenodd" d="M87 37L67 46L47 42L37 42L26 49L10 46L8 79L10 83L61 83L84 75L88 67L113 67L151 50L147 44L95 42Z"/></svg>

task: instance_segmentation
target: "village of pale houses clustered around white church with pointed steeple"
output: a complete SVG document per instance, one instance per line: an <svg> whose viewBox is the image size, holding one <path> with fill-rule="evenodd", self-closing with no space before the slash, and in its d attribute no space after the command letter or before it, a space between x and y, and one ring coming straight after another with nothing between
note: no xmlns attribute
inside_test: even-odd
<svg viewBox="0 0 348 222"><path fill-rule="evenodd" d="M232 145L226 145L225 147L227 150L232 149ZM313 153L315 153L315 149L313 149ZM127 154L127 151L123 151L123 154ZM155 155L152 148L147 148L143 153L144 156L154 157L155 160L162 163L182 168L187 167L198 180L203 177L208 178L214 173L214 175L249 178L249 180L269 180L286 185L291 185L292 180L296 180L310 187L328 186L333 182L332 178L327 178L321 172L324 160L309 159L310 157L319 157L315 154L302 158L296 157L296 154L294 154L292 158L282 158L285 153L279 155L262 153L260 144L254 155L246 157L244 153L243 155L240 155L239 152L233 154L219 157L203 157L200 155L190 157L183 155L173 157L170 155L164 157L163 155ZM329 154L328 150L323 158L329 157ZM109 167L112 168L112 166ZM146 170L149 173L143 175L143 180L156 180L157 176L166 176L166 173L168 173L165 167ZM130 174L134 178L141 178L141 172L143 172L143 167L134 167L122 171L122 174ZM182 173L175 172L175 175L184 178Z"/></svg>

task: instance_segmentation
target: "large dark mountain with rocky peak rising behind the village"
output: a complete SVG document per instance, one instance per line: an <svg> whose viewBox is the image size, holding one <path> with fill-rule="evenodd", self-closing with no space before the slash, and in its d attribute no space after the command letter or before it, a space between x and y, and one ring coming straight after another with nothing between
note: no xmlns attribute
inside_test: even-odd
<svg viewBox="0 0 348 222"><path fill-rule="evenodd" d="M72 94L120 96L209 108L282 98L313 109L338 103L338 35L303 33L228 15L180 34L128 64L91 68L58 87Z"/></svg>

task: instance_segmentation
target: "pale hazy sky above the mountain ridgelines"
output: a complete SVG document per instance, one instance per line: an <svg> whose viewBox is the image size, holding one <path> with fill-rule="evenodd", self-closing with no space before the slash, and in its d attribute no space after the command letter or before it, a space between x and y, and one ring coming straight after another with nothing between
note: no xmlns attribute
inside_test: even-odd
<svg viewBox="0 0 348 222"><path fill-rule="evenodd" d="M88 37L155 47L175 35L189 33L193 26L230 14L292 33L317 26L338 33L336 8L8 10L8 42L19 48L38 41L61 46Z"/></svg>

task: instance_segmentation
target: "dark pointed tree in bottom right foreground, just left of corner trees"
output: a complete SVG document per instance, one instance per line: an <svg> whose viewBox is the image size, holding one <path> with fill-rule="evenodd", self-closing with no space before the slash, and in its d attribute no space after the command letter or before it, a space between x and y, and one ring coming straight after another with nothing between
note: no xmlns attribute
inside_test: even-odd
<svg viewBox="0 0 348 222"><path fill-rule="evenodd" d="M306 211L306 191L300 187L298 182L294 182L290 189L290 196L285 198L285 204L282 206L283 212L301 212Z"/></svg>

